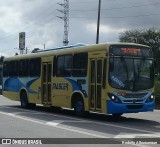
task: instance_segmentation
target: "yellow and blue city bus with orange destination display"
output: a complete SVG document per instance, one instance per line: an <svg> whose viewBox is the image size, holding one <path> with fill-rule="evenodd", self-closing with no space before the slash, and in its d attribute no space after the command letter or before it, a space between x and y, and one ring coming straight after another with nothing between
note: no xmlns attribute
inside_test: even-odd
<svg viewBox="0 0 160 147"><path fill-rule="evenodd" d="M154 110L152 50L134 43L48 49L4 59L3 95L22 108L61 107L77 115Z"/></svg>

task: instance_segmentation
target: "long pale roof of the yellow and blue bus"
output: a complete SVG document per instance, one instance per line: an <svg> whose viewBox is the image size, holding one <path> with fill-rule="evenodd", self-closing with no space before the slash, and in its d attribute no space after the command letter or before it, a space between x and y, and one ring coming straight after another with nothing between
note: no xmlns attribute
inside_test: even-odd
<svg viewBox="0 0 160 147"><path fill-rule="evenodd" d="M38 52L30 53L30 54L15 55L12 57L5 58L4 61L21 59L21 58L27 59L27 58L35 58L35 57L41 57L41 56L72 54L72 53L89 52L89 51L100 51L100 50L108 51L110 45L138 45L138 46L149 47L149 46L142 45L142 44L121 43L121 42L102 43L102 44L93 44L93 45L78 44L78 45L63 46L63 47L58 47L58 48L40 50Z"/></svg>

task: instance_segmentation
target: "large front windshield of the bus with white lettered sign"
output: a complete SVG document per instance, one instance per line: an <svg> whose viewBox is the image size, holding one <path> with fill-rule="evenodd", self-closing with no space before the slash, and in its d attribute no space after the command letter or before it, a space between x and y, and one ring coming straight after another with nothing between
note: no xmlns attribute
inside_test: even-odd
<svg viewBox="0 0 160 147"><path fill-rule="evenodd" d="M153 60L110 57L109 62L109 83L112 87L133 91L153 87Z"/></svg>

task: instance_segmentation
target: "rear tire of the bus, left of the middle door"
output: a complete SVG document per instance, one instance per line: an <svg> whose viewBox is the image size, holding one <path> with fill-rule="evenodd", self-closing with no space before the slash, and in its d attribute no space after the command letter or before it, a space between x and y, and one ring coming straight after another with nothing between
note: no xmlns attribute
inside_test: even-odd
<svg viewBox="0 0 160 147"><path fill-rule="evenodd" d="M25 109L29 108L27 93L24 91L22 91L20 94L20 102L21 102L22 108L25 108Z"/></svg>

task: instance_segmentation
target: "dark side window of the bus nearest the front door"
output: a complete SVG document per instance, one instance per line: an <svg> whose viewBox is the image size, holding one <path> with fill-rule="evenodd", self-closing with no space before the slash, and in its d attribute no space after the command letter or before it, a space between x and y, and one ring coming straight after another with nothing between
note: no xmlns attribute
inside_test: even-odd
<svg viewBox="0 0 160 147"><path fill-rule="evenodd" d="M73 76L85 77L87 75L88 54L78 53L73 57Z"/></svg>

